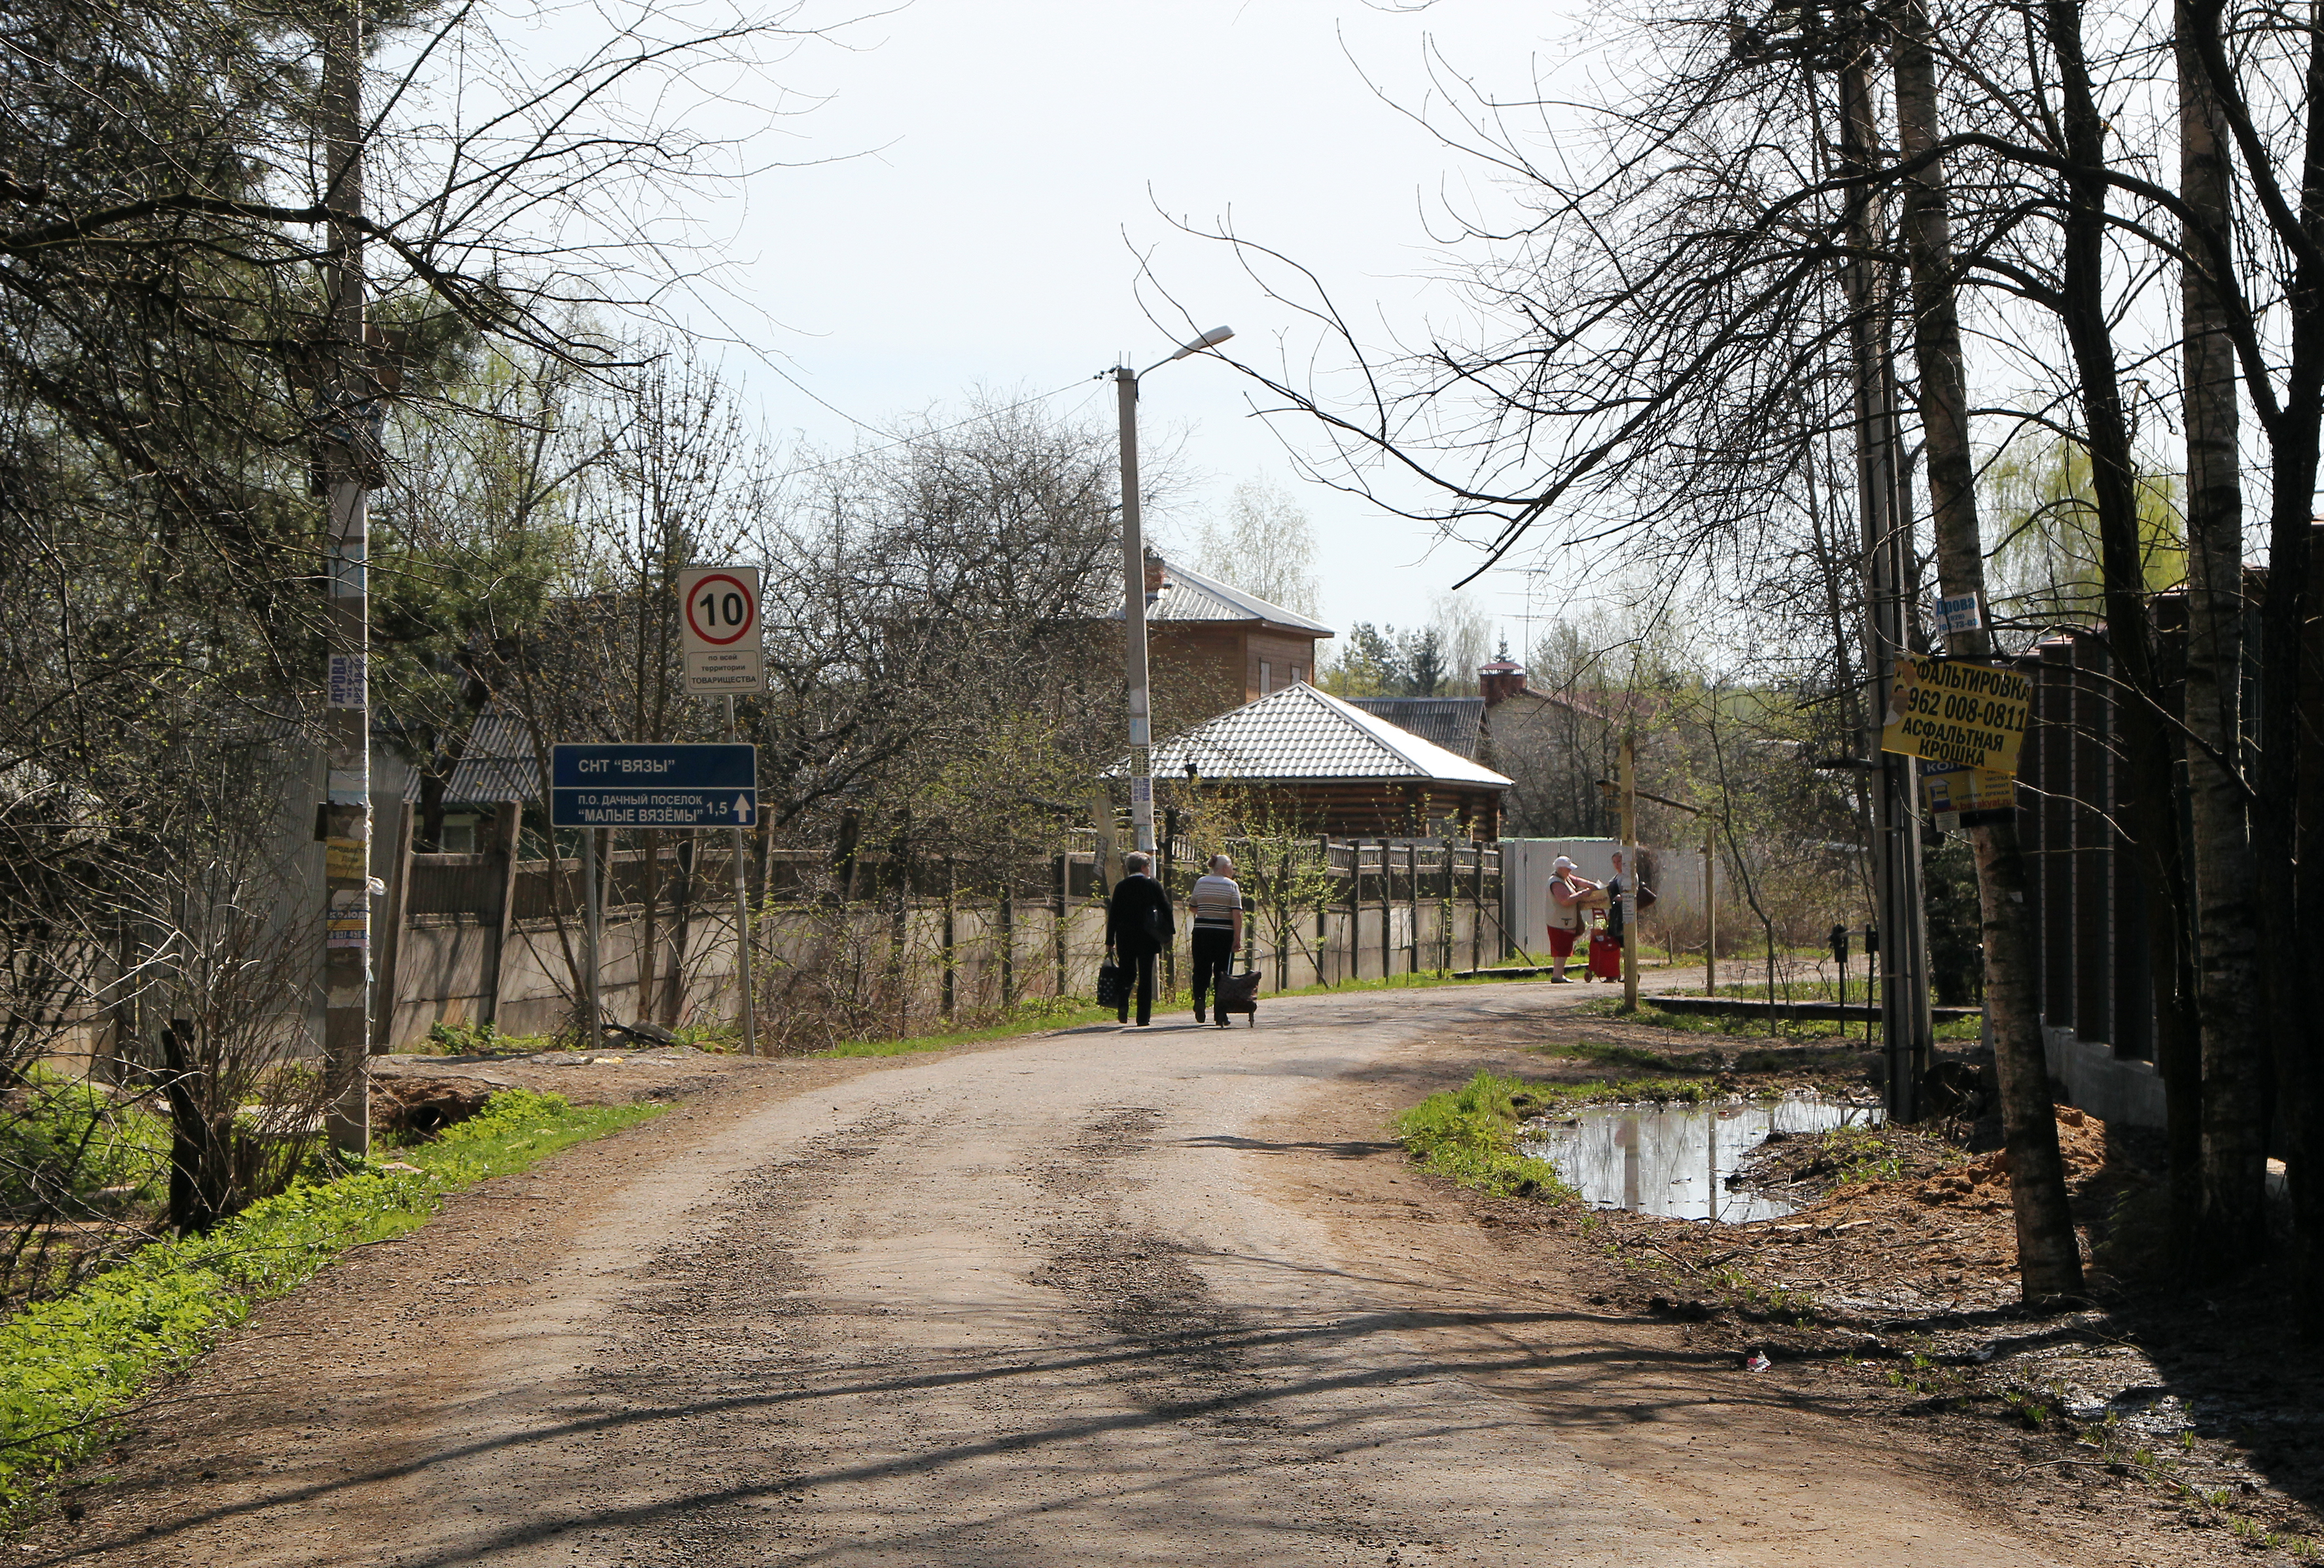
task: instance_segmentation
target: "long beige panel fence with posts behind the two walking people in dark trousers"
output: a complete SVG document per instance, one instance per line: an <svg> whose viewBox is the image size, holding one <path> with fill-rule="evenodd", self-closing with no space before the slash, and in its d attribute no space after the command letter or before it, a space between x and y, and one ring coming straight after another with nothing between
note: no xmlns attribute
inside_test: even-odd
<svg viewBox="0 0 2324 1568"><path fill-rule="evenodd" d="M739 1010L730 848L723 834L667 839L607 857L600 990L611 1017L727 1022ZM792 1038L811 1008L853 1029L909 1034L1037 997L1090 994L1113 848L1083 829L1006 876L888 864L869 850L841 864L813 850L758 853L751 929L767 1034ZM1246 892L1243 959L1271 992L1478 969L1508 952L1494 843L1278 839L1229 853ZM1160 862L1183 906L1202 869L1192 846L1171 841ZM404 1050L437 1022L565 1027L581 906L576 859L407 848L381 922L374 1050ZM1183 973L1185 925L1167 955L1167 990Z"/></svg>

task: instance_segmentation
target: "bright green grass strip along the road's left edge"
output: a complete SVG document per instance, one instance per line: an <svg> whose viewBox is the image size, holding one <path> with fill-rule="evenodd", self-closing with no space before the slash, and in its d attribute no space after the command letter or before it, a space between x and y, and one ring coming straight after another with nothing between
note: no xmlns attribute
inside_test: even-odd
<svg viewBox="0 0 2324 1568"><path fill-rule="evenodd" d="M37 1508L58 1473L105 1447L116 1417L184 1373L251 1308L304 1285L349 1247L402 1236L446 1192L630 1127L660 1106L569 1106L507 1089L432 1143L330 1180L300 1180L209 1236L163 1240L88 1285L0 1324L0 1517Z"/></svg>

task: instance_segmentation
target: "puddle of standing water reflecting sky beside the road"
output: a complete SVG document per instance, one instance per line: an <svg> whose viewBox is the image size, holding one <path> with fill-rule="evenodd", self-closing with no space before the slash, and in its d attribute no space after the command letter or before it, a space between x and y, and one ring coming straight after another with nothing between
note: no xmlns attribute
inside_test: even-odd
<svg viewBox="0 0 2324 1568"><path fill-rule="evenodd" d="M1880 1106L1820 1094L1708 1106L1587 1106L1525 1127L1520 1148L1583 1189L1597 1208L1629 1208L1671 1220L1776 1220L1794 1213L1778 1196L1731 1185L1743 1157L1771 1131L1820 1134L1878 1127Z"/></svg>

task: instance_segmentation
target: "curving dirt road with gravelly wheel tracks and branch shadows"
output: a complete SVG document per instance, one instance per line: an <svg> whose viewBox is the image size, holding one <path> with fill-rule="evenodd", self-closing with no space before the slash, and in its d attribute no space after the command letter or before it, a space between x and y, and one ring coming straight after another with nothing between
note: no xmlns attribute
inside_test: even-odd
<svg viewBox="0 0 2324 1568"><path fill-rule="evenodd" d="M2122 1561L1383 1143L1464 1024L1580 994L769 1069L270 1308L19 1561Z"/></svg>

